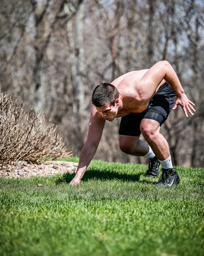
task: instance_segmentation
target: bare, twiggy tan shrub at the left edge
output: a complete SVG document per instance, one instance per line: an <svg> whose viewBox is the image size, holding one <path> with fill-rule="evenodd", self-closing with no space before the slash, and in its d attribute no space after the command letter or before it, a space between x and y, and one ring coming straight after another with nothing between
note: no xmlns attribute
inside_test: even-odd
<svg viewBox="0 0 204 256"><path fill-rule="evenodd" d="M8 94L0 94L0 164L70 156L56 127Z"/></svg>

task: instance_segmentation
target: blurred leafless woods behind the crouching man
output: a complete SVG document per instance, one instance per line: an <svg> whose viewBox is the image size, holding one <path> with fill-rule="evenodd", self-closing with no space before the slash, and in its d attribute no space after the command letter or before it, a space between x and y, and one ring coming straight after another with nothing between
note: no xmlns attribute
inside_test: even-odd
<svg viewBox="0 0 204 256"><path fill-rule="evenodd" d="M95 86L168 60L197 112L178 107L162 133L173 165L204 167L203 13L202 0L1 0L0 92L52 118L79 155ZM147 163L120 151L119 123L107 122L95 158Z"/></svg>

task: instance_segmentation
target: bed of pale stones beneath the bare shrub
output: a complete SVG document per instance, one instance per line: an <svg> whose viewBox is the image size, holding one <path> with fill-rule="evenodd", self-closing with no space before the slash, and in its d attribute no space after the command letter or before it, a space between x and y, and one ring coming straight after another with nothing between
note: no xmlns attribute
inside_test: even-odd
<svg viewBox="0 0 204 256"><path fill-rule="evenodd" d="M38 164L29 164L25 161L19 161L15 166L0 167L0 178L23 178L35 176L48 176L76 172L78 163L66 161L42 161Z"/></svg>

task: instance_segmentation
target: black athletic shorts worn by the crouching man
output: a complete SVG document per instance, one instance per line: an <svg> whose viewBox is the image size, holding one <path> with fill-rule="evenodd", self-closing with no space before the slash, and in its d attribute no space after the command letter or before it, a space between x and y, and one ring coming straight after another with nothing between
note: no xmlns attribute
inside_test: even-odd
<svg viewBox="0 0 204 256"><path fill-rule="evenodd" d="M165 122L176 100L176 94L171 86L165 82L150 101L147 109L142 113L130 113L121 118L119 134L139 137L142 119L153 119L160 126Z"/></svg>

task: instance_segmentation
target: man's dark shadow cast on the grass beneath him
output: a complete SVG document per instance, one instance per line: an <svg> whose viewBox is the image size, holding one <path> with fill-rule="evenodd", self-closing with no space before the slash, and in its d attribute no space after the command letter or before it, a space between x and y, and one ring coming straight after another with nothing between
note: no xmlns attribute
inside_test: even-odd
<svg viewBox="0 0 204 256"><path fill-rule="evenodd" d="M63 174L62 177L59 177L57 183L70 183L70 181L74 178L75 174ZM82 181L87 180L123 180L123 181L131 181L131 182L138 182L141 174L118 174L117 172L111 172L107 170L87 170L82 178ZM148 182L148 181L147 181Z"/></svg>

